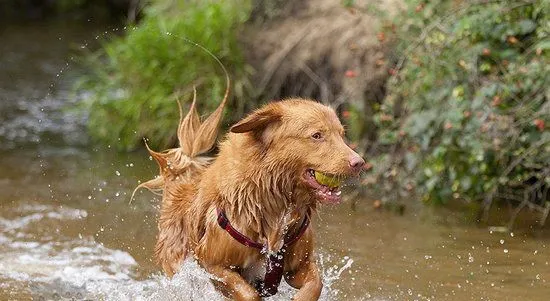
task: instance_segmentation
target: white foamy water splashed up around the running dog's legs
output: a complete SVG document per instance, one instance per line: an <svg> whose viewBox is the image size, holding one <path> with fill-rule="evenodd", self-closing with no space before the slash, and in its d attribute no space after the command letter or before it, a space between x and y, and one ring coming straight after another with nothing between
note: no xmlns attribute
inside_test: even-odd
<svg viewBox="0 0 550 301"><path fill-rule="evenodd" d="M0 288L4 291L25 287L26 294L40 300L223 300L212 276L194 260L184 262L171 279L161 273L139 279L138 263L129 253L107 248L94 237L66 237L54 229L46 236L32 234L38 223L86 219L85 210L27 204L10 212L14 213L11 218L0 217ZM333 285L353 260L321 254L318 263L324 282L321 300L338 300L339 291ZM283 281L279 293L267 300L290 300L295 292Z"/></svg>

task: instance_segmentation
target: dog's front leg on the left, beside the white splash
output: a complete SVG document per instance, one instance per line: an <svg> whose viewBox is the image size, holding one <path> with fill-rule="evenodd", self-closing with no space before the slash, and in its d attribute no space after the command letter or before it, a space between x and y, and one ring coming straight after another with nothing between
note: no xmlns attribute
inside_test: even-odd
<svg viewBox="0 0 550 301"><path fill-rule="evenodd" d="M219 278L216 281L226 295L237 301L260 301L260 295L239 273L218 265L203 265L206 271Z"/></svg>

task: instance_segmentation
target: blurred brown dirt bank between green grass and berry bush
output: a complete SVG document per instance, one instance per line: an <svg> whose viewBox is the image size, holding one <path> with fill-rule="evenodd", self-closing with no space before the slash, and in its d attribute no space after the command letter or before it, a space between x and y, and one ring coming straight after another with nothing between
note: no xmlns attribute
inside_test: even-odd
<svg viewBox="0 0 550 301"><path fill-rule="evenodd" d="M312 97L339 110L349 103L368 128L392 64L383 19L400 7L398 0L257 1L242 40L258 97Z"/></svg>

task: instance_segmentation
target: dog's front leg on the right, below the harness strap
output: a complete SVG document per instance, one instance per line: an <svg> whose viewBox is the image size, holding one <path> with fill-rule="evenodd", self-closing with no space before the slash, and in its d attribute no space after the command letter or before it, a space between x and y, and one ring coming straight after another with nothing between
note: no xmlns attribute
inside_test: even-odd
<svg viewBox="0 0 550 301"><path fill-rule="evenodd" d="M286 275L285 280L291 286L299 289L294 298L292 298L293 301L318 300L323 289L319 269L311 260L307 260L301 264L296 272Z"/></svg>

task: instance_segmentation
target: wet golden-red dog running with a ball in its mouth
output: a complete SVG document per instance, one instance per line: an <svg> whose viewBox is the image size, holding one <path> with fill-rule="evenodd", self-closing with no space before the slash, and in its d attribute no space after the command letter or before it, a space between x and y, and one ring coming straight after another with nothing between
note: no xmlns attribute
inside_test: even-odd
<svg viewBox="0 0 550 301"><path fill-rule="evenodd" d="M180 119L179 147L147 146L160 175L136 190L162 195L155 257L169 276L194 257L234 300L271 296L283 277L298 289L293 300L317 300L322 279L309 220L319 203L341 202L341 180L365 161L346 144L335 111L306 99L253 111L231 127L215 157L205 156L226 101L227 91L201 122L195 92Z"/></svg>

